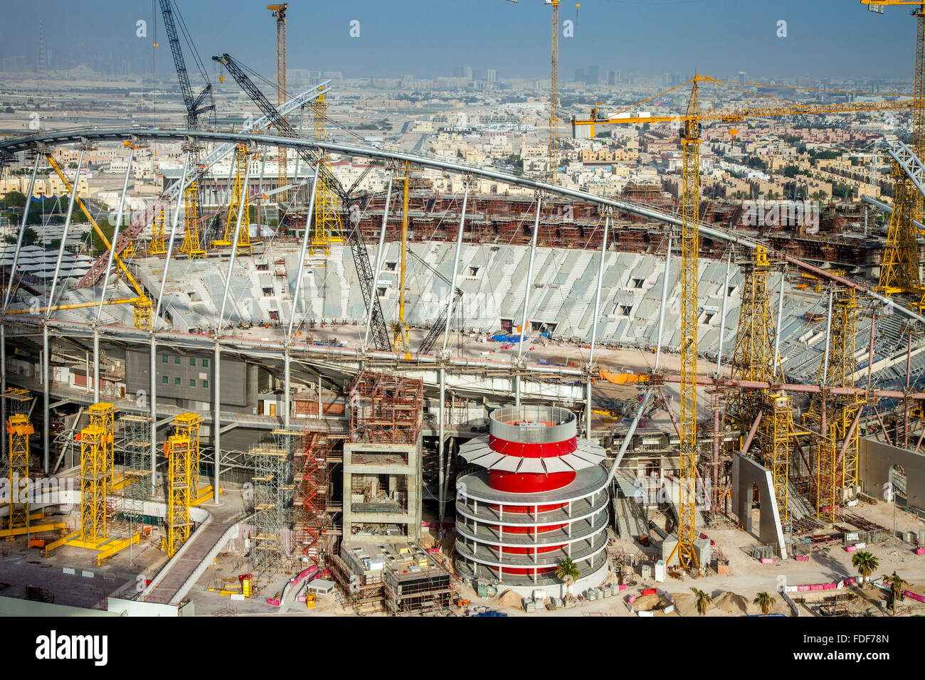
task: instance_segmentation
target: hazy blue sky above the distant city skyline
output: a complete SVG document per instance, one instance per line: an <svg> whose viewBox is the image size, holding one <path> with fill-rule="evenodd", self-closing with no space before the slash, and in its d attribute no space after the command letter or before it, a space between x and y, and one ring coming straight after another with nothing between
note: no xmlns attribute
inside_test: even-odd
<svg viewBox="0 0 925 680"><path fill-rule="evenodd" d="M275 78L275 20L258 0L177 0L200 56L228 52ZM59 55L84 41L100 50L142 48L150 62L157 17L157 72L173 68L160 10L152 0L3 0L0 56ZM857 0L584 0L574 37L560 40L561 79L596 64L601 77L695 69L710 75L745 70L749 78L794 76L911 80L915 19L905 7L870 13ZM563 2L560 20L575 19ZM136 21L148 21L137 38ZM350 22L360 37L350 37ZM778 21L787 37L777 37ZM290 68L339 70L345 77L411 73L451 75L453 68L497 68L499 77L549 73L549 6L542 0L342 0L290 2ZM184 49L186 49L184 45ZM144 52L146 50L146 52ZM187 56L191 74L195 69Z"/></svg>

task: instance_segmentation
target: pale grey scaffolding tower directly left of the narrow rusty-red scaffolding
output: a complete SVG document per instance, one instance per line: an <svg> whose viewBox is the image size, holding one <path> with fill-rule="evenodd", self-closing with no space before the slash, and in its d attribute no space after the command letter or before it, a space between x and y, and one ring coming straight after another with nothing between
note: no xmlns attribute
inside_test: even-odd
<svg viewBox="0 0 925 680"><path fill-rule="evenodd" d="M274 430L274 442L251 449L256 536L251 563L254 571L273 574L286 559L283 533L292 525L292 453L301 432Z"/></svg>

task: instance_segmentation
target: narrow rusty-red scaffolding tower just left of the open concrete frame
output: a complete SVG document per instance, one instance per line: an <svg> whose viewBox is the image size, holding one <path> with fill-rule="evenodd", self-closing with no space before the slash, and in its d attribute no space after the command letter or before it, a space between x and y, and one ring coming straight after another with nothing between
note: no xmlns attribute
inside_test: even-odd
<svg viewBox="0 0 925 680"><path fill-rule="evenodd" d="M324 565L325 529L329 524L330 439L324 432L306 432L293 450L292 542L302 561Z"/></svg>

